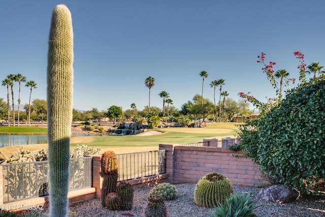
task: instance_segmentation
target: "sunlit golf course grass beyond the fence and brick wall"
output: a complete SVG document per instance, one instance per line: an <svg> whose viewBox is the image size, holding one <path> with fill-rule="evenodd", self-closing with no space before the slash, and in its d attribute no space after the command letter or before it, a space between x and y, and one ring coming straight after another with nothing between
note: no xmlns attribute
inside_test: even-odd
<svg viewBox="0 0 325 217"><path fill-rule="evenodd" d="M207 128L162 128L154 129L163 133L150 136L91 136L74 137L71 139L71 148L77 144L85 144L88 147L101 148L101 153L107 150L113 150L115 153L129 153L148 150L157 150L159 144L184 144L192 142L202 142L206 138L224 138L233 137L238 130L238 123L221 122L212 123ZM37 127L0 127L0 133L46 133L46 128ZM10 131L11 130L11 131ZM150 130L149 130L150 131ZM147 131L147 132L149 132ZM78 141L76 141L76 139ZM2 147L2 151L8 154L15 152L18 146ZM38 148L47 148L47 144L25 145L24 149L35 150Z"/></svg>

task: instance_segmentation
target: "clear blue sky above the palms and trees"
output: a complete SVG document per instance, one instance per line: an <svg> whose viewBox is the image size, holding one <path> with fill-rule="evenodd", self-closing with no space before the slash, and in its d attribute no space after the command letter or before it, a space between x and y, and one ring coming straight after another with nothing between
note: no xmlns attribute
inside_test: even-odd
<svg viewBox="0 0 325 217"><path fill-rule="evenodd" d="M224 79L222 90L239 100L250 91L265 101L275 90L257 64L257 55L275 61L298 78L298 59L306 64L324 60L323 1L2 1L0 7L0 79L21 73L38 88L32 99L46 100L48 33L52 10L70 9L74 28L74 108L123 110L132 103L148 105L144 81L155 78L151 106L163 106L158 96L170 94L174 106L201 94L201 71L209 76L204 98L213 101L209 83ZM18 84L15 85L15 104ZM217 95L218 96L218 95ZM29 89L22 87L22 104ZM0 86L0 98L7 89ZM217 98L218 99L218 98Z"/></svg>

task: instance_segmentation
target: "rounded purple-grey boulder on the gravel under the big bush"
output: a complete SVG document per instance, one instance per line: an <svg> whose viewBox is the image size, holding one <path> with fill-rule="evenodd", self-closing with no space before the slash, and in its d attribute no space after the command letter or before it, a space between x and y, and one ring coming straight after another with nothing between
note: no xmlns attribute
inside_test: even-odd
<svg viewBox="0 0 325 217"><path fill-rule="evenodd" d="M258 193L258 198L271 201L274 203L289 203L299 198L300 194L297 190L293 190L289 185L276 184L267 188L263 188Z"/></svg>

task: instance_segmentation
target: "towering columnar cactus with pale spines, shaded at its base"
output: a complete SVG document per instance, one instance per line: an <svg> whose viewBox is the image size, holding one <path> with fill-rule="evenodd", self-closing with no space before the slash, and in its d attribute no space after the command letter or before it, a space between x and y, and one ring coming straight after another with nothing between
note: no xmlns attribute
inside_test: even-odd
<svg viewBox="0 0 325 217"><path fill-rule="evenodd" d="M73 29L69 9L54 8L47 65L50 216L68 215L70 134L73 95Z"/></svg>

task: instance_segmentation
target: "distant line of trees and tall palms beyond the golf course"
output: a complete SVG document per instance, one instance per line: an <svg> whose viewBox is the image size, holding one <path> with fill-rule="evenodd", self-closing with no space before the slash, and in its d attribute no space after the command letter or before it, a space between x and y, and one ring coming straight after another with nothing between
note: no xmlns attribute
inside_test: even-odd
<svg viewBox="0 0 325 217"><path fill-rule="evenodd" d="M138 121L140 123L151 123L153 126L158 126L160 121L176 121L181 126L190 126L191 123L201 121L231 121L232 117L240 113L242 116L247 116L251 112L248 109L248 104L243 100L238 102L233 99L227 98L229 96L227 91L222 91L223 85L225 85L224 79L213 80L210 83L210 87L213 87L214 101L203 97L204 80L208 77L206 71L202 71L199 74L202 78L202 94L194 95L192 100L188 100L184 103L180 109L173 106L174 102L170 98L170 94L166 90L159 92L158 96L163 99L163 105L161 108L156 106L150 106L150 94L151 88L155 85L155 79L151 76L145 79L145 86L149 88L149 103L143 110L138 110L135 103L130 105L129 109L122 111L122 108L113 105L107 110L99 111L98 108L93 107L91 110L80 111L73 109L74 121L89 121L89 122L102 122L102 121ZM14 83L18 82L18 110L15 111L14 104ZM25 104L21 111L20 109L20 86L25 82L25 86L30 88L29 103ZM7 119L12 122L12 125L17 126L21 120L27 122L30 126L31 121L46 121L47 116L47 104L45 100L34 99L31 101L32 90L37 88L35 81L27 81L26 77L17 74L10 74L2 81L2 85L7 86L7 105L4 99L0 98L0 118ZM219 103L216 103L216 87L219 87ZM10 91L11 90L11 91ZM10 98L11 96L11 98ZM223 99L222 99L223 98ZM12 103L12 107L11 107ZM167 115L166 115L167 114ZM10 123L9 123L10 126Z"/></svg>

